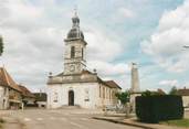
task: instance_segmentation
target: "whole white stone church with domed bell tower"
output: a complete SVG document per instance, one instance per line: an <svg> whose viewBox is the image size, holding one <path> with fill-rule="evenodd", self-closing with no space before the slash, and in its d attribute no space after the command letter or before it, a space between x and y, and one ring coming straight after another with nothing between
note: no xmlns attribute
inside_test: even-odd
<svg viewBox="0 0 189 129"><path fill-rule="evenodd" d="M117 105L115 94L122 88L114 80L103 80L95 69L86 68L87 42L76 13L64 43L64 71L54 76L50 73L48 78L48 108L77 106L102 109Z"/></svg>

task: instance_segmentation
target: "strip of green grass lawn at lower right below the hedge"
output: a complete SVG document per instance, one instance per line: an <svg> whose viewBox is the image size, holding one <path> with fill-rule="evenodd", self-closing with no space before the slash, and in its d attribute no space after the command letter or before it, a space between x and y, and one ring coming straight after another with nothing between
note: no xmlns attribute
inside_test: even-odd
<svg viewBox="0 0 189 129"><path fill-rule="evenodd" d="M177 126L177 127L189 127L189 119L168 120L168 121L162 121L160 123Z"/></svg>

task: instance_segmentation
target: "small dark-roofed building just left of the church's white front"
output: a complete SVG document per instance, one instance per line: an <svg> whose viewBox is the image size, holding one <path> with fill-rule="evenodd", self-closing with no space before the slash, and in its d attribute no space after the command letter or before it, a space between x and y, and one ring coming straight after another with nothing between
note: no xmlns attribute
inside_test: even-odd
<svg viewBox="0 0 189 129"><path fill-rule="evenodd" d="M33 95L35 96L35 104L38 105L38 107L46 107L46 93L33 93Z"/></svg>

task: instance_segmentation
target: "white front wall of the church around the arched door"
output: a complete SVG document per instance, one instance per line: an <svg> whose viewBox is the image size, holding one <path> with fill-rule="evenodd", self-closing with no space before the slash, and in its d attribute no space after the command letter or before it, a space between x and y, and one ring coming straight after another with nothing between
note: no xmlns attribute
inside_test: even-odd
<svg viewBox="0 0 189 129"><path fill-rule="evenodd" d="M59 108L69 105L69 90L74 92L74 105L82 108L98 107L98 83L56 84L48 86L48 108ZM88 101L85 101L88 90ZM57 103L54 103L57 93Z"/></svg>

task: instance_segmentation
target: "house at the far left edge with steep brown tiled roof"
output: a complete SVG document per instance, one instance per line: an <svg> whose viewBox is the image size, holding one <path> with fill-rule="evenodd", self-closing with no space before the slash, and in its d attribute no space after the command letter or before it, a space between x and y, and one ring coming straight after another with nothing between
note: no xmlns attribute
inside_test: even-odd
<svg viewBox="0 0 189 129"><path fill-rule="evenodd" d="M0 109L19 109L22 105L21 89L4 67L0 67Z"/></svg>

